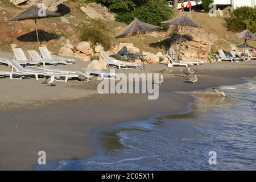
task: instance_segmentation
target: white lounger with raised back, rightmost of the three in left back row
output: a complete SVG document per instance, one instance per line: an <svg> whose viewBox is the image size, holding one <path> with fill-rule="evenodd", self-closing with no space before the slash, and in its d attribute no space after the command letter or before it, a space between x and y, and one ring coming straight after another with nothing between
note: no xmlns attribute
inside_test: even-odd
<svg viewBox="0 0 256 182"><path fill-rule="evenodd" d="M43 59L54 59L56 61L63 61L63 64L73 64L76 60L68 57L51 55L47 47L39 47L39 51Z"/></svg>

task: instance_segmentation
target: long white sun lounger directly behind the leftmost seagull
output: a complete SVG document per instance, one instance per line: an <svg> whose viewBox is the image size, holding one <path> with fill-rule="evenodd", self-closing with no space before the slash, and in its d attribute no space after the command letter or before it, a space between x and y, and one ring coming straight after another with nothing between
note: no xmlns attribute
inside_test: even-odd
<svg viewBox="0 0 256 182"><path fill-rule="evenodd" d="M36 80L39 80L39 75L40 76L54 76L55 78L61 78L64 77L65 78L65 82L68 81L68 78L72 78L72 77L76 77L76 75L74 74L66 74L66 73L60 73L60 72L50 72L50 71L37 71L34 69L26 69L23 68L21 65L19 65L18 63L16 63L16 61L14 60L8 60L9 64L12 66L12 69L16 69L15 73L18 73L20 75L33 75L36 77ZM12 70L13 71L13 70ZM56 80L56 81L61 81L61 80Z"/></svg>

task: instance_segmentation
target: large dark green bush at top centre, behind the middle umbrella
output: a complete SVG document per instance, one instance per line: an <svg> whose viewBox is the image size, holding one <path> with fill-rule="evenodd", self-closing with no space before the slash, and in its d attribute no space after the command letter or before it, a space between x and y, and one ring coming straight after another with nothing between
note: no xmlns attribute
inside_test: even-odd
<svg viewBox="0 0 256 182"><path fill-rule="evenodd" d="M131 23L134 17L143 22L163 26L161 22L172 18L172 9L166 0L95 0L117 14L118 22Z"/></svg>

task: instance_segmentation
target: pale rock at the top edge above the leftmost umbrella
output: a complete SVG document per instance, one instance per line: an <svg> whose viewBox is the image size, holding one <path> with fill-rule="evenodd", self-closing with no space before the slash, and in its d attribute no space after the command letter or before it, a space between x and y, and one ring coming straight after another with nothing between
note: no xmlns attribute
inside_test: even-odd
<svg viewBox="0 0 256 182"><path fill-rule="evenodd" d="M9 0L16 6L20 6L23 8L27 8L31 5L38 5L39 3L44 3L46 5L46 9L50 11L56 11L57 6L67 0Z"/></svg>

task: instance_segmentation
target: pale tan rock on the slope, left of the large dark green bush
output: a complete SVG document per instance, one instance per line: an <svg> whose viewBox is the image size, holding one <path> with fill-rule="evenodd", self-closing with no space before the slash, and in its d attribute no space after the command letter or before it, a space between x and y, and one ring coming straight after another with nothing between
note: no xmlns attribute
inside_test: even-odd
<svg viewBox="0 0 256 182"><path fill-rule="evenodd" d="M88 3L86 6L80 7L89 18L114 21L115 14L110 13L105 6L97 3Z"/></svg>

